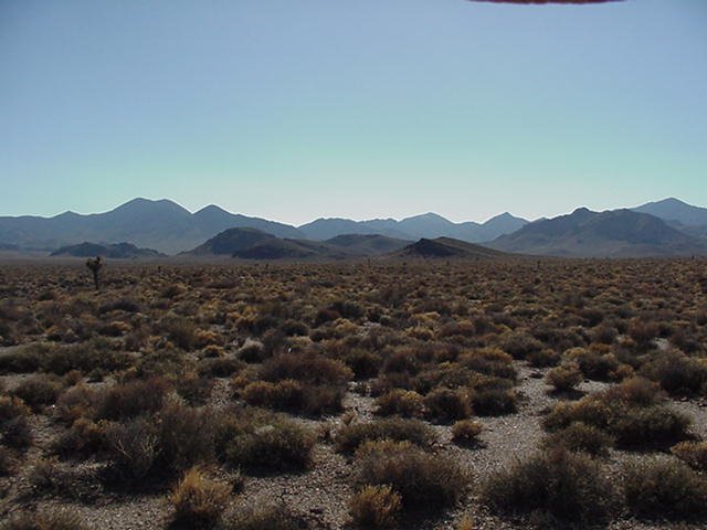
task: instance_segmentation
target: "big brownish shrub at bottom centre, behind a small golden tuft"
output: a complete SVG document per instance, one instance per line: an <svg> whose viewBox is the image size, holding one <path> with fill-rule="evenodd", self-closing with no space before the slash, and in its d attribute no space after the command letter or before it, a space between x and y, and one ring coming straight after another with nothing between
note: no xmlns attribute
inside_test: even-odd
<svg viewBox="0 0 707 530"><path fill-rule="evenodd" d="M368 442L356 452L356 464L358 486L390 485L405 509L452 506L471 481L456 462L410 442Z"/></svg>

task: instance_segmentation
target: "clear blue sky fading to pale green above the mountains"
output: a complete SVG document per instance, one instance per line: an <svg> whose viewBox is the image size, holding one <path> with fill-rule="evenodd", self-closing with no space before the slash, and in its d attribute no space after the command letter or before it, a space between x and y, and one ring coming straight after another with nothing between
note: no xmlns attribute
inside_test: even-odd
<svg viewBox="0 0 707 530"><path fill-rule="evenodd" d="M0 215L707 206L707 2L0 0Z"/></svg>

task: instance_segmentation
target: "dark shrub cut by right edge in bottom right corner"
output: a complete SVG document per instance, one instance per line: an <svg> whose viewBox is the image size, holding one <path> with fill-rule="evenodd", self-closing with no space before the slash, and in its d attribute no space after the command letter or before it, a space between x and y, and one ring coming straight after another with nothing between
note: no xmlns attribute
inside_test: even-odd
<svg viewBox="0 0 707 530"><path fill-rule="evenodd" d="M636 517L704 520L707 479L683 463L644 458L626 469L625 496Z"/></svg>

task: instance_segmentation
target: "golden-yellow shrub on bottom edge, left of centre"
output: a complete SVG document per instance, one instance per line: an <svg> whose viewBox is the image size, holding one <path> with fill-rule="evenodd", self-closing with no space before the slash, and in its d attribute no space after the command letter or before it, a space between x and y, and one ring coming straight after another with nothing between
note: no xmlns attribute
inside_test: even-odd
<svg viewBox="0 0 707 530"><path fill-rule="evenodd" d="M210 479L199 467L189 469L170 495L171 528L210 529L231 498L231 486Z"/></svg>

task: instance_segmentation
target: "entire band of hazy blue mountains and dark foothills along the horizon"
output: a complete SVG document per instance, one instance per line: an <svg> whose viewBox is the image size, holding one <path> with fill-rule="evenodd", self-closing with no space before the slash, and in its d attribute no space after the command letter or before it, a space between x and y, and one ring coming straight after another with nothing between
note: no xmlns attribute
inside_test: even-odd
<svg viewBox="0 0 707 530"><path fill-rule="evenodd" d="M478 257L477 248L458 251L469 243L482 243L483 252L568 257L705 255L707 209L671 198L605 212L580 208L534 222L503 213L485 223L454 223L425 213L400 221L318 219L293 226L217 205L191 213L169 200L135 199L97 214L0 218L0 251L61 250L64 255L84 255L89 245L101 245L91 248L119 255L123 251L116 245L124 242L131 245L123 247L131 257L148 252L263 259L395 253L425 257L428 252L436 257L445 253Z"/></svg>

